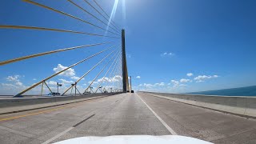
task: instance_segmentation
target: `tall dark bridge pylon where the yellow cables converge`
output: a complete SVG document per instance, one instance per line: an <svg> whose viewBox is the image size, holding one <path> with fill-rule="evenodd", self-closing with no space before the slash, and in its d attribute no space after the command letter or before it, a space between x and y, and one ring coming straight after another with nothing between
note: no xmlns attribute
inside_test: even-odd
<svg viewBox="0 0 256 144"><path fill-rule="evenodd" d="M124 93L129 90L127 86L128 84L128 72L126 65L126 38L125 38L125 30L122 30L122 91Z"/></svg>

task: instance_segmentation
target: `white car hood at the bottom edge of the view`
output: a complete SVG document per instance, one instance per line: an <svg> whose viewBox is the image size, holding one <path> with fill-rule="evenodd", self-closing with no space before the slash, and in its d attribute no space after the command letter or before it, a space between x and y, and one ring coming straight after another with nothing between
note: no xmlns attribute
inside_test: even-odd
<svg viewBox="0 0 256 144"><path fill-rule="evenodd" d="M56 142L56 144L76 144L76 143L90 143L90 144L210 144L210 142L202 141L197 138L190 138L179 135L163 135L163 136L151 136L151 135L114 135L108 137L81 137L72 138L62 142Z"/></svg>

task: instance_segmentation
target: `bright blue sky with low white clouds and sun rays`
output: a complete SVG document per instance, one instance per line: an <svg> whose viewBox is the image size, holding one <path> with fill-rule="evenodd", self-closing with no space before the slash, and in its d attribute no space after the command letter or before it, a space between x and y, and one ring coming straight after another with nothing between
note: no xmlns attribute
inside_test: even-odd
<svg viewBox="0 0 256 144"><path fill-rule="evenodd" d="M72 1L107 23L83 0ZM62 10L115 33L111 29L113 25L106 26L68 1L35 0L34 2ZM99 10L93 0L88 2ZM256 85L256 9L254 9L256 2L254 0L97 2L107 14L112 15L112 20L119 27L119 34L122 28L126 30L128 74L132 77L134 90L185 93ZM2 2L0 17L1 25L38 26L120 37L78 19L17 0ZM46 30L0 29L0 34L0 62L72 46L111 42L0 66L0 94L17 94L43 78L113 46L112 49L46 82L54 91L57 89L56 82L62 83L60 87L62 92L110 54L114 48L121 50L121 38ZM118 53L116 53L114 51L110 57L86 75L78 83L78 90L83 92L110 61L92 85L94 88L97 87L117 57ZM117 63L119 64L118 60ZM121 71L115 71L117 72L113 72L112 77L110 72L106 74L107 82L103 84L120 87ZM41 85L27 94L40 92ZM45 86L43 93L48 92Z"/></svg>

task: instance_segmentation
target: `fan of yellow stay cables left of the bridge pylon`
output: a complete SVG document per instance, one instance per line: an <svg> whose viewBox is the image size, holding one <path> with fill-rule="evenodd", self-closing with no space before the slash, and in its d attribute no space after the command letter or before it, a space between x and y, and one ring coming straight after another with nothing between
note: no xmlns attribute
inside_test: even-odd
<svg viewBox="0 0 256 144"><path fill-rule="evenodd" d="M86 73L82 74L79 78L76 79L74 83L71 83L70 86L66 87L66 90L63 91L61 94L69 95L69 92L71 95L76 94L95 94L95 93L113 93L113 92L122 92L123 90L123 82L122 82L122 66L124 61L124 30L121 30L119 26L110 18L108 14L106 14L106 10L102 9L102 6L99 5L98 2L93 0L94 6L92 3L88 2L87 0L82 0L83 2L86 2L90 8L96 12L96 14L93 14L89 10L86 10L82 6L79 6L78 3L74 2L73 0L67 0L67 2L70 2L70 5L73 5L77 7L79 10L83 11L85 14L89 14L91 17L96 19L98 23L101 23L102 25L106 26L106 28L102 26L98 26L94 24L93 22L86 21L85 19L78 18L72 14L68 14L66 12L63 12L61 10L54 9L53 7L46 6L42 3L34 2L32 0L23 0L23 2L30 3L35 6L42 7L46 10L54 11L55 13L65 15L69 18L74 18L78 20L79 22L84 22L89 26L94 26L98 28L98 30L103 30L102 34L100 33L90 33L86 31L80 31L80 30L65 30L62 28L50 28L50 27L42 27L42 26L20 26L20 25L0 25L0 29L14 29L14 30L41 30L41 31L54 31L54 32L61 32L61 33L70 33L70 34L85 34L88 36L98 37L98 38L116 38L121 39L122 38L122 45L116 44L112 41L107 42L98 42L94 44L87 44L82 46L72 46L72 47L66 47L62 49L55 49L55 50L49 50L45 52L40 52L37 54L30 54L25 55L18 58L12 58L8 60L4 60L0 62L0 66L5 66L14 62L20 62L25 61L27 59L42 57L48 54L56 54L64 51L70 51L70 50L78 50L78 49L85 49L89 47L95 47L95 46L104 46L104 50L99 50L98 52L91 54L90 56L87 56L86 58L80 60L79 62L76 62L70 66L65 67L63 70L60 70L58 72L55 72L54 74L51 74L50 76L43 78L39 82L34 83L32 86L26 86L26 90L22 90L18 94L14 95L14 98L21 98L22 95L26 94L30 90L33 90L34 88L40 87L40 96L44 94L44 90L49 90L51 93L54 93L54 88L49 86L49 81L51 78L54 78L58 75L61 75L62 73L66 72L66 70L70 70L71 68L74 68L74 66L81 65L82 63L87 62L90 59L96 58L98 55L106 54L103 56L99 61L97 60L97 63L94 66L90 67L90 70L87 70ZM99 14L99 15L98 15ZM99 18L98 16L101 16ZM108 29L110 28L110 30ZM109 34L106 34L109 33ZM122 32L122 34L121 34ZM107 45L112 46L107 46ZM104 64L104 65L103 65ZM102 66L103 65L103 66ZM126 65L126 64L125 64ZM93 78L92 81L90 81L89 86L86 86L82 91L78 90L78 84L81 84L81 81L88 76L88 74L92 74L92 72L95 70L96 67L101 67L100 71L96 74L96 76ZM105 73L104 73L105 72ZM102 78L100 78L102 76ZM89 79L89 78L86 78ZM97 83L95 90L92 86L94 86L94 83ZM58 85L58 83L57 83ZM82 92L82 93L81 93ZM38 96L39 96L38 95Z"/></svg>

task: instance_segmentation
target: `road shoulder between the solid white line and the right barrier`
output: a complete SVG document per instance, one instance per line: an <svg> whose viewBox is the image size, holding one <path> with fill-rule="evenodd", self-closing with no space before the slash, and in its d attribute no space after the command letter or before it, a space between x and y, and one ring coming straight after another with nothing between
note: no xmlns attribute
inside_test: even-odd
<svg viewBox="0 0 256 144"><path fill-rule="evenodd" d="M256 143L256 120L139 93L177 134L214 143Z"/></svg>

